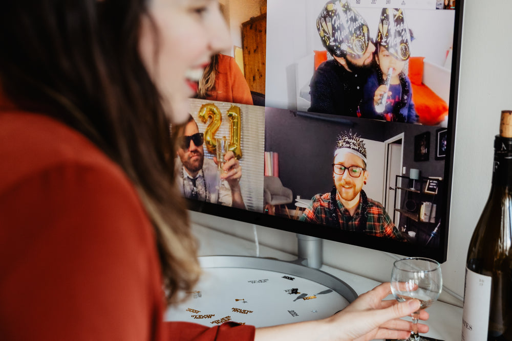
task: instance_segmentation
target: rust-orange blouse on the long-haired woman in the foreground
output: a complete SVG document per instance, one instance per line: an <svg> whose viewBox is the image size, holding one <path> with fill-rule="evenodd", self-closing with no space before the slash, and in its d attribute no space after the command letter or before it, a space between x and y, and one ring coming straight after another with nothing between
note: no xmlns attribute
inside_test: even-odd
<svg viewBox="0 0 512 341"><path fill-rule="evenodd" d="M163 321L153 229L124 172L46 116L0 109L2 340L250 340Z"/></svg>

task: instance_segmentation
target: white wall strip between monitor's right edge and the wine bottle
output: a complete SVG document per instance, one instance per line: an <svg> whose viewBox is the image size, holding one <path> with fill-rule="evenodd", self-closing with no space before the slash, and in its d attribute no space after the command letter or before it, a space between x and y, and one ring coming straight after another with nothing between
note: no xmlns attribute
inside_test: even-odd
<svg viewBox="0 0 512 341"><path fill-rule="evenodd" d="M469 0L464 7L450 239L443 266L446 286L459 294L467 246L489 194L500 113L512 108L512 2Z"/></svg>

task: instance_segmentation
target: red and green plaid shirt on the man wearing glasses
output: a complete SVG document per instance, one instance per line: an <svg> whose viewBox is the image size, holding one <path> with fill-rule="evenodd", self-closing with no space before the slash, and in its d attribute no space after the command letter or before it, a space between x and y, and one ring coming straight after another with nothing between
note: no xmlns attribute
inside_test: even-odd
<svg viewBox="0 0 512 341"><path fill-rule="evenodd" d="M313 197L311 206L308 207L303 215L301 221L312 222L315 224L323 224L327 226L336 226L337 224L332 221L329 206L330 206L331 193L316 194ZM336 193L336 203L338 209L339 226L342 230L358 231L358 223L361 219L362 200L359 199L359 206L357 207L354 216L339 201L339 196ZM395 224L389 217L386 210L382 207L380 202L368 198L368 220L366 222L365 234L376 237L387 237L392 239L403 240L400 232Z"/></svg>

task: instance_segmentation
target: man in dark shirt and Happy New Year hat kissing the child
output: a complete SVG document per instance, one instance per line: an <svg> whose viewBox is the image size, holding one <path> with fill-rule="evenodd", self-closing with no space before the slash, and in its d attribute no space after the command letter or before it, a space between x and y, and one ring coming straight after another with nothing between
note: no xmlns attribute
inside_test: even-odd
<svg viewBox="0 0 512 341"><path fill-rule="evenodd" d="M316 28L332 59L319 65L311 79L308 111L357 117L374 64L375 46L366 20L348 2L331 0L316 19Z"/></svg>

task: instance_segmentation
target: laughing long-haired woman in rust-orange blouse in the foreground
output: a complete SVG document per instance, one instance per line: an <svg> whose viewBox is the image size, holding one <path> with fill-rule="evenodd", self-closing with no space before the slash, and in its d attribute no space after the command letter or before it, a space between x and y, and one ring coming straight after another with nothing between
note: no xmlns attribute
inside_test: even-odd
<svg viewBox="0 0 512 341"><path fill-rule="evenodd" d="M200 272L168 124L188 116L187 74L228 41L214 0L3 2L2 340L408 334L396 319L419 302L382 303L389 284L293 326L163 322Z"/></svg>

